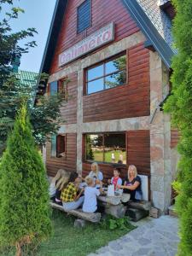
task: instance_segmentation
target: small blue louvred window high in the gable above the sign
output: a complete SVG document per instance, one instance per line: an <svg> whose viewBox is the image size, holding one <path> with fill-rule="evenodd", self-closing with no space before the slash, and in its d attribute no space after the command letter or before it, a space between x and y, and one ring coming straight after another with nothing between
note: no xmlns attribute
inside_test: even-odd
<svg viewBox="0 0 192 256"><path fill-rule="evenodd" d="M78 33L83 32L91 23L91 0L85 0L78 7Z"/></svg>

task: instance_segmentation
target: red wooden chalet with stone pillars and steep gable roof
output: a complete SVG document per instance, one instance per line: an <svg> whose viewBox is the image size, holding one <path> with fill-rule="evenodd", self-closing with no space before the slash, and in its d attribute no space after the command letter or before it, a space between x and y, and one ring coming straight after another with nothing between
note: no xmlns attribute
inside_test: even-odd
<svg viewBox="0 0 192 256"><path fill-rule="evenodd" d="M64 120L44 148L49 176L59 168L105 178L137 166L148 200L166 212L175 177L177 131L160 106L170 92L170 1L57 0L40 72L39 94L61 92Z"/></svg>

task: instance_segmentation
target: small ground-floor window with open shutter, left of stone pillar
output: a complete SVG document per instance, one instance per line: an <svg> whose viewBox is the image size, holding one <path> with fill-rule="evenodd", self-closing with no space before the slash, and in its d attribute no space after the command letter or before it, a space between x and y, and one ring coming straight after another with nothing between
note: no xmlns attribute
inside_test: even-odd
<svg viewBox="0 0 192 256"><path fill-rule="evenodd" d="M52 157L66 156L66 136L65 135L51 136L51 156Z"/></svg>

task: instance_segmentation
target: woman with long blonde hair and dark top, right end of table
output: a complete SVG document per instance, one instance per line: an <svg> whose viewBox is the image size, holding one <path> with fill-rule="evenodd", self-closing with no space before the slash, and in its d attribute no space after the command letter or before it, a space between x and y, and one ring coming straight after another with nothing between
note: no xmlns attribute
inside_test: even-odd
<svg viewBox="0 0 192 256"><path fill-rule="evenodd" d="M136 166L129 166L124 185L117 185L117 187L124 189L124 193L131 194L131 200L142 200L142 181L137 175Z"/></svg>

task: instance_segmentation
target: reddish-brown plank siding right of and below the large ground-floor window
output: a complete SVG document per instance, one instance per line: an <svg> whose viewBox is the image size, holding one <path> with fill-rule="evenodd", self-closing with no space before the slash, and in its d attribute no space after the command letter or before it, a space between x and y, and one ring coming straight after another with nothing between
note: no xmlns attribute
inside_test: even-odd
<svg viewBox="0 0 192 256"><path fill-rule="evenodd" d="M127 163L137 166L139 174L150 177L150 132L149 130L127 131ZM89 174L90 163L83 163L83 176ZM99 164L102 170L104 180L113 177L113 164ZM120 177L125 178L127 175L127 166L120 168ZM148 179L149 181L149 179Z"/></svg>

